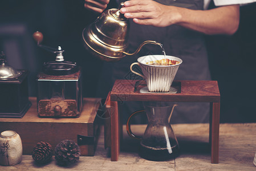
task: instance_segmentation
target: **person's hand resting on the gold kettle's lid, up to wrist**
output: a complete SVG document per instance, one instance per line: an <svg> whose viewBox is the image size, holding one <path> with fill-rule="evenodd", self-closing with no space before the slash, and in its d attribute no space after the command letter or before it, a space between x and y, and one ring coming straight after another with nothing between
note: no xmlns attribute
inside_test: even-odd
<svg viewBox="0 0 256 171"><path fill-rule="evenodd" d="M180 7L166 6L152 0L131 0L124 2L121 13L126 18L133 18L140 25L157 27L170 26L181 19Z"/></svg>

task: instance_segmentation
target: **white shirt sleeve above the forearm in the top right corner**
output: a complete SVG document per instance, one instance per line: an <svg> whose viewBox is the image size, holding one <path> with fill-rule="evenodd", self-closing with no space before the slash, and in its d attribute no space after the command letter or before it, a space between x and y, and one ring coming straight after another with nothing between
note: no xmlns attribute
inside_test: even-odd
<svg viewBox="0 0 256 171"><path fill-rule="evenodd" d="M208 9L210 1L211 0L204 0L204 9L205 10ZM246 3L256 2L256 0L213 0L213 1L214 1L214 5L216 5L216 6L235 5L235 4L243 5Z"/></svg>

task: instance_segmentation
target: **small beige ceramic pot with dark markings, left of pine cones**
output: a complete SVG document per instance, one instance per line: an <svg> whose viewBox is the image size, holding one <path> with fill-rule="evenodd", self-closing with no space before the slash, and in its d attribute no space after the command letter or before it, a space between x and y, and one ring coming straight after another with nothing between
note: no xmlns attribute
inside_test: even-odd
<svg viewBox="0 0 256 171"><path fill-rule="evenodd" d="M22 161L21 137L15 131L0 134L0 165L17 165Z"/></svg>

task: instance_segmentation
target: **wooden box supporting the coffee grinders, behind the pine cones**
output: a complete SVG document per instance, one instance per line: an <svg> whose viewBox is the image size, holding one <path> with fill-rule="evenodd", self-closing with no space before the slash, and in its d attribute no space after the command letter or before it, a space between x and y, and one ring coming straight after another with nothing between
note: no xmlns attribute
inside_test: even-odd
<svg viewBox="0 0 256 171"><path fill-rule="evenodd" d="M30 97L31 108L22 119L0 118L0 132L13 130L21 136L23 154L31 154L32 148L44 141L53 148L62 140L74 140L80 146L82 156L94 156L99 122L97 111L100 99L84 98L78 118L40 118L36 108L36 97Z"/></svg>

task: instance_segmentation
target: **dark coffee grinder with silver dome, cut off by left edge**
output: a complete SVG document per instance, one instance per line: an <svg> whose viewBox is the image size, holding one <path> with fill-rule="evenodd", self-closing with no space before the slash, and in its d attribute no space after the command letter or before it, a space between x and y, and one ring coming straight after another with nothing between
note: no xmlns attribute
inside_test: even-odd
<svg viewBox="0 0 256 171"><path fill-rule="evenodd" d="M31 107L26 70L9 66L0 53L0 117L22 118Z"/></svg>

